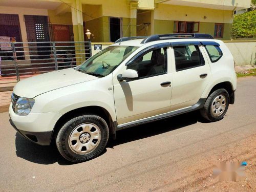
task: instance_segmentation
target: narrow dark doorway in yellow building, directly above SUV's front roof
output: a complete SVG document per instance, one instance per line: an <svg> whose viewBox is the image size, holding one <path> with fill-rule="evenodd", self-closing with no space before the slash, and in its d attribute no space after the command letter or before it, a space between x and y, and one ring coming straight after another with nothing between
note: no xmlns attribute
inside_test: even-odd
<svg viewBox="0 0 256 192"><path fill-rule="evenodd" d="M110 17L110 41L115 42L122 37L122 19L118 17Z"/></svg>

